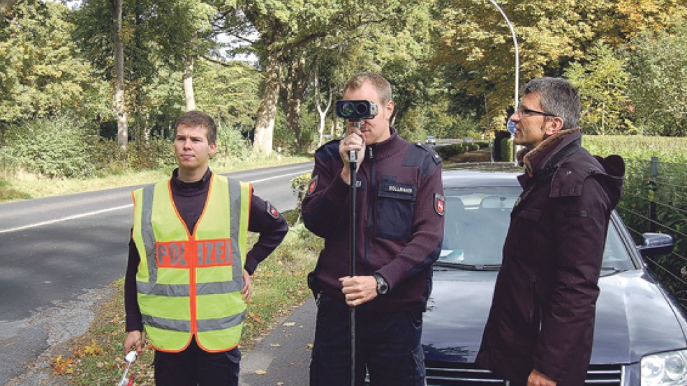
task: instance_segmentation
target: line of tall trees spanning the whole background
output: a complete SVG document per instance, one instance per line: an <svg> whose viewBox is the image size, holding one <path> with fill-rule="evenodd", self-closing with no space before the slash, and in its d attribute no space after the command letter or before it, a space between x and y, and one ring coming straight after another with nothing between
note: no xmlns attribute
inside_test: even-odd
<svg viewBox="0 0 687 386"><path fill-rule="evenodd" d="M686 134L681 0L499 3L520 79L569 77L584 130ZM512 111L515 48L487 0L18 0L0 12L0 145L24 121L73 114L135 150L199 108L256 153L308 151L339 134L332 102L360 70L390 79L408 139L501 130Z"/></svg>

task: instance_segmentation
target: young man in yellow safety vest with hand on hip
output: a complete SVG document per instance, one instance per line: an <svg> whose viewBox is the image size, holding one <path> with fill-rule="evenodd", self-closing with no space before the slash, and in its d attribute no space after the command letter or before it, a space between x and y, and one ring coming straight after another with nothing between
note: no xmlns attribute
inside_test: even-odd
<svg viewBox="0 0 687 386"><path fill-rule="evenodd" d="M250 275L288 231L251 184L210 171L216 137L212 118L187 111L176 125L179 167L133 192L124 350L140 353L145 328L158 386L238 384ZM260 237L246 252L249 231Z"/></svg>

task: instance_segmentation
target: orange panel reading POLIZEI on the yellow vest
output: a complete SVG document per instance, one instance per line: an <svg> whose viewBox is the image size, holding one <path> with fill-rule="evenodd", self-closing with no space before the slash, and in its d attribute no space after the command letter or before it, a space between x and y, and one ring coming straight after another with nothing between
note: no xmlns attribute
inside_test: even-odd
<svg viewBox="0 0 687 386"><path fill-rule="evenodd" d="M155 249L159 268L188 268L191 261L196 267L231 265L229 239L157 242Z"/></svg>

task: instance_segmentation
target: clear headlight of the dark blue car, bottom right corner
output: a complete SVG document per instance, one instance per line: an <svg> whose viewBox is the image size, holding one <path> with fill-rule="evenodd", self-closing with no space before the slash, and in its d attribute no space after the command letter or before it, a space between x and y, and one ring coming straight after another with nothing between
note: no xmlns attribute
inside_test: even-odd
<svg viewBox="0 0 687 386"><path fill-rule="evenodd" d="M643 357L642 386L645 385L687 385L687 350Z"/></svg>

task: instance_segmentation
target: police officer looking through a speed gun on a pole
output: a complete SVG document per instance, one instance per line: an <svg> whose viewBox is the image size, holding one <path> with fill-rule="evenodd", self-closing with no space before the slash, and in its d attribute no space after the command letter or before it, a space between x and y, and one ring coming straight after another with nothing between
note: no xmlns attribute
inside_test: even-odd
<svg viewBox="0 0 687 386"><path fill-rule="evenodd" d="M337 102L346 136L315 154L302 203L305 226L325 239L308 280L318 303L311 386L363 385L366 371L373 386L424 385L422 315L443 237L441 158L401 139L393 112L385 78L355 75Z"/></svg>

